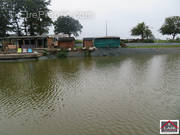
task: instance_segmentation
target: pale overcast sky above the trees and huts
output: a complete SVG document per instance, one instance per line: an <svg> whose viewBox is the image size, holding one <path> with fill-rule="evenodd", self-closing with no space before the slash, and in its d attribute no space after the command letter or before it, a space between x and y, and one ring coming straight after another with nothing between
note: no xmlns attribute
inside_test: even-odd
<svg viewBox="0 0 180 135"><path fill-rule="evenodd" d="M83 25L78 37L131 36L131 29L145 22L156 38L171 38L159 33L165 18L180 16L180 0L52 0L51 16L70 15ZM50 30L53 33L53 28Z"/></svg>

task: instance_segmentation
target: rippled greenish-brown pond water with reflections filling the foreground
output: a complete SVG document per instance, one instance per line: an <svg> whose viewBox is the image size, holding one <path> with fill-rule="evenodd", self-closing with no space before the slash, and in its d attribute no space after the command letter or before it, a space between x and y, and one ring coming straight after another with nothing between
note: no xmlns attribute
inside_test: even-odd
<svg viewBox="0 0 180 135"><path fill-rule="evenodd" d="M179 82L180 55L0 63L0 135L159 134Z"/></svg>

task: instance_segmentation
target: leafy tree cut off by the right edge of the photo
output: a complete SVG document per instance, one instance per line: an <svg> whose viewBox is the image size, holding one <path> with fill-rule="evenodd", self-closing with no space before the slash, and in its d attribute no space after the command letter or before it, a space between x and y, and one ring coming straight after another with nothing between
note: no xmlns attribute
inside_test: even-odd
<svg viewBox="0 0 180 135"><path fill-rule="evenodd" d="M172 16L165 19L165 23L160 28L163 35L172 35L173 40L180 34L180 16Z"/></svg>

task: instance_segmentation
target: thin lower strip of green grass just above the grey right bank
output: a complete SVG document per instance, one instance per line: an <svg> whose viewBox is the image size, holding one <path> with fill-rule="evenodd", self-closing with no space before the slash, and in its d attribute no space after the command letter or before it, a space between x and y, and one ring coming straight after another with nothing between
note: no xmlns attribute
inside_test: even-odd
<svg viewBox="0 0 180 135"><path fill-rule="evenodd" d="M147 46L129 46L128 48L175 48L180 47L179 45L147 45Z"/></svg>

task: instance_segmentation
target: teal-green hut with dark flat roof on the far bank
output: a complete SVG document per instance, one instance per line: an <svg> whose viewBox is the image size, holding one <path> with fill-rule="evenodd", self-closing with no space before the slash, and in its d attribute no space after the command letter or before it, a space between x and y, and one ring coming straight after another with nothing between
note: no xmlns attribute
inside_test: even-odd
<svg viewBox="0 0 180 135"><path fill-rule="evenodd" d="M118 48L120 47L120 37L99 37L94 39L96 48Z"/></svg>

